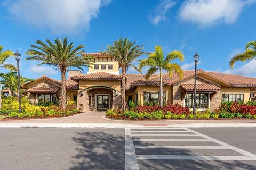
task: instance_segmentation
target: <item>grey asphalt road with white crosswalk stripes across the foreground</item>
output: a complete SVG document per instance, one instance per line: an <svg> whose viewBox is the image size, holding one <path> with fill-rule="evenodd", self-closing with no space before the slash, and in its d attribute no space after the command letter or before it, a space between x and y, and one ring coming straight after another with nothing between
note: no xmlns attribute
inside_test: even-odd
<svg viewBox="0 0 256 170"><path fill-rule="evenodd" d="M256 128L0 128L0 169L256 169L256 158L244 160L255 139ZM125 155L136 164L125 167Z"/></svg>

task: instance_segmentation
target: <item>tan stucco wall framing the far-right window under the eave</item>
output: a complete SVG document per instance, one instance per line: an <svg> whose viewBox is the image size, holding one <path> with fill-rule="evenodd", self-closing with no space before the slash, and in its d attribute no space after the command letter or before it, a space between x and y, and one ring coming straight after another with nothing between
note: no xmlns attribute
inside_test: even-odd
<svg viewBox="0 0 256 170"><path fill-rule="evenodd" d="M250 99L250 88L221 87L221 89L222 89L221 94L244 94L244 102L247 102Z"/></svg>

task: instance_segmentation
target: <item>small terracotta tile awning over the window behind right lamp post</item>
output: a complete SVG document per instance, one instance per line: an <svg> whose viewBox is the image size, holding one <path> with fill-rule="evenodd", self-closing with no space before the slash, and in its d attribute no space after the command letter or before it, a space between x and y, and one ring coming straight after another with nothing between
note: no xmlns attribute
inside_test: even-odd
<svg viewBox="0 0 256 170"><path fill-rule="evenodd" d="M185 91L194 91L194 84L181 84L180 87ZM214 84L196 84L197 91L220 91L221 88Z"/></svg>

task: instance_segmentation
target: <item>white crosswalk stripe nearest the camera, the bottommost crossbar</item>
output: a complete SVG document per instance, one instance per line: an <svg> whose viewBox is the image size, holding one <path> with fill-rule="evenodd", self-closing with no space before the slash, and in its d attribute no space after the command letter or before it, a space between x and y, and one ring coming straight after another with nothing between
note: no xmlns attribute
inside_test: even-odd
<svg viewBox="0 0 256 170"><path fill-rule="evenodd" d="M256 160L247 156L137 155L137 159L167 160Z"/></svg>

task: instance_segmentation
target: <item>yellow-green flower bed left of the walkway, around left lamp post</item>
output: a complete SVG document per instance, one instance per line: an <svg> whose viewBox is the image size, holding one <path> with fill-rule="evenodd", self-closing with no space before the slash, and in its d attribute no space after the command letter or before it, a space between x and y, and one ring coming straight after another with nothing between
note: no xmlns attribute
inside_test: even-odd
<svg viewBox="0 0 256 170"><path fill-rule="evenodd" d="M29 103L27 98L21 99L22 113L19 113L19 103L16 97L2 99L0 114L7 115L6 118L51 118L63 117L79 113L74 102L68 103L66 111L62 111L57 105L36 106ZM6 119L5 118L5 119Z"/></svg>

